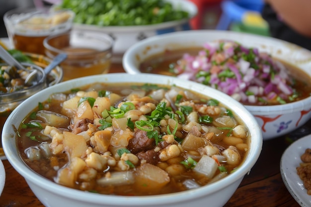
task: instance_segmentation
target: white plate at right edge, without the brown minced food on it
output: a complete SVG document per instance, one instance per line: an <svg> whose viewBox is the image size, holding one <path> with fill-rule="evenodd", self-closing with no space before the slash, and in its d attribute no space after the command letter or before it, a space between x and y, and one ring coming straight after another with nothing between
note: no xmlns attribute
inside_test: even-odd
<svg viewBox="0 0 311 207"><path fill-rule="evenodd" d="M287 190L302 207L311 206L311 196L307 194L304 183L296 170L296 167L302 162L300 156L305 152L306 148L311 148L311 135L300 138L292 143L284 151L280 166L282 179Z"/></svg>

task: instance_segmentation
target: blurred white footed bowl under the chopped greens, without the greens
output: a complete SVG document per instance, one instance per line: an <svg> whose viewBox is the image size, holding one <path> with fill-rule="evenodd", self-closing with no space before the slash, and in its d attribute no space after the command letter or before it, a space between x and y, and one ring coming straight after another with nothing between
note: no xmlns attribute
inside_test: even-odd
<svg viewBox="0 0 311 207"><path fill-rule="evenodd" d="M135 43L158 34L174 31L190 30L190 19L197 14L197 6L190 0L166 0L174 8L181 8L189 13L189 18L144 26L96 26L74 24L78 30L100 31L109 34L114 39L113 62L121 62L124 52Z"/></svg>

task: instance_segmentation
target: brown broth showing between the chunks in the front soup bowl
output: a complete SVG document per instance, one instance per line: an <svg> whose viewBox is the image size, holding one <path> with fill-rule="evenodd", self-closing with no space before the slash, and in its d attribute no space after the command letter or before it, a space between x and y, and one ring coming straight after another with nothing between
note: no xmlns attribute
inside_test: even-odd
<svg viewBox="0 0 311 207"><path fill-rule="evenodd" d="M94 85L88 85L88 86L82 87L80 89L84 90L84 91L89 91L92 88L96 88L96 91L106 90L106 91L111 91L113 93L122 94L121 91L123 89L129 89L130 88L130 86L128 84L125 84L125 85L121 85L121 84L95 84L95 85L96 85L95 87L94 87ZM138 86L138 88L142 88L141 85ZM67 96L73 97L73 93L71 95L70 95L70 92L65 93L65 94ZM196 104L205 104L206 100L210 99L208 97L198 95L194 92L193 92L193 94L194 94L195 98L193 98L192 100L189 100L189 101L192 101ZM202 102L203 100L205 100L205 101ZM62 104L63 104L62 101L59 101L59 100L53 99L53 98L51 98L48 101L43 103L43 105L45 106L45 110L53 111L53 112L56 112L59 114L62 114ZM220 103L220 106L221 105L222 104ZM34 109L34 112L37 112L37 111L39 111L38 108ZM215 116L214 118L216 119L216 117L217 116ZM237 122L237 125L243 125L242 121L239 120L239 118L236 117L235 115L234 115L234 119ZM23 123L29 123L31 121L34 121L34 120L31 119L30 116L28 116L25 118L25 121ZM44 123L42 123L42 125L44 126ZM206 124L206 126L213 126L213 124ZM60 128L63 129L64 131L71 131L70 126L62 126ZM166 127L164 127L164 128L166 128ZM41 130L36 131L33 128L25 129L22 126L20 126L18 131L19 131L20 137L17 138L17 145L18 145L18 149L19 149L19 152L20 152L22 159L35 172L46 177L47 179L49 179L51 181L55 181L57 173L58 173L57 170L65 167L67 165L68 154L67 153L52 154L51 156L42 157L39 160L34 160L34 161L30 160L27 157L27 150L29 149L29 147L39 148L39 145L41 142L42 143L45 143L45 142L49 143L49 142L51 142L51 139L48 138L47 136L43 136L41 133ZM27 135L27 133L29 133L30 131L32 131L32 136L36 136L37 140L32 140L29 138L29 135ZM224 142L223 139L227 137L229 132L230 131L228 129L222 129L222 130L220 130L219 133L213 134L213 138L211 138L210 140L213 142L213 144L220 145L220 146L222 146L222 148L227 148L227 147L229 147L230 144ZM178 137L178 138L183 139L183 138L185 138L185 136L188 135L188 132L181 130L179 135L180 135L180 137ZM249 137L243 138L241 140L243 140L243 143L248 145ZM92 145L89 142L87 143L87 145L89 147L92 147ZM115 151L115 149L113 149L113 146L110 146L110 150ZM241 160L238 164L229 165L226 163L222 163L226 167L226 169L228 170L228 174L230 174L231 171L236 169L243 162L243 159L246 156L247 149L244 148L243 150L238 150L238 151L239 151L239 154L241 156ZM195 151L195 152L184 151L179 156L177 156L175 158L171 158L167 161L158 162L156 166L160 167L161 169L167 169L166 167L171 165L171 164L180 165L179 162L184 160L185 156L187 156L187 155L193 156L194 159L197 159L197 157L200 157L199 151ZM58 166L57 168L55 168L55 163L57 163L57 166ZM54 168L53 168L53 166L54 166ZM164 166L166 166L166 167L164 167ZM96 175L96 179L105 176L107 171L108 171L108 169L98 171L97 175ZM109 169L109 171L112 171L112 172L118 171L118 169L116 167L111 167ZM220 171L218 169L216 174L219 174L219 173L220 173ZM180 191L187 190L182 185L182 182L186 179L195 180L201 186L207 185L210 182L210 179L208 179L203 174L193 172L192 170L184 169L182 172L180 172L177 175L170 175L170 182L160 189L148 189L146 187L142 190L142 189L138 189L135 184L120 185L120 186L110 185L110 186L102 187L100 185L96 185L95 179L92 179L88 182L82 182L82 181L78 180L73 188L83 190L83 191L97 192L100 194L112 194L112 195L126 195L126 196L159 195L159 194L168 194L168 193L174 193L174 192L180 192Z"/></svg>

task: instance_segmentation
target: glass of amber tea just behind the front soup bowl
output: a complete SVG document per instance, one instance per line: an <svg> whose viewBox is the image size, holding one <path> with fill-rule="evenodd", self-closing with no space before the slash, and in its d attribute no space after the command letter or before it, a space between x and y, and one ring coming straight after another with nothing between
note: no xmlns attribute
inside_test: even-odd
<svg viewBox="0 0 311 207"><path fill-rule="evenodd" d="M113 39L102 32L72 30L44 39L45 54L53 59L66 53L61 63L64 80L107 73L110 69Z"/></svg>

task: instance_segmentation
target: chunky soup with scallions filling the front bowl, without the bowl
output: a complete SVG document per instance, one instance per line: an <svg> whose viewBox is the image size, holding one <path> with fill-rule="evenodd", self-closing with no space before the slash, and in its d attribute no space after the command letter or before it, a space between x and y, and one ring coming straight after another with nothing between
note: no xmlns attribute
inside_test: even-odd
<svg viewBox="0 0 311 207"><path fill-rule="evenodd" d="M18 133L20 156L38 174L125 196L208 185L234 173L249 143L242 120L222 103L150 84L95 83L53 94Z"/></svg>

